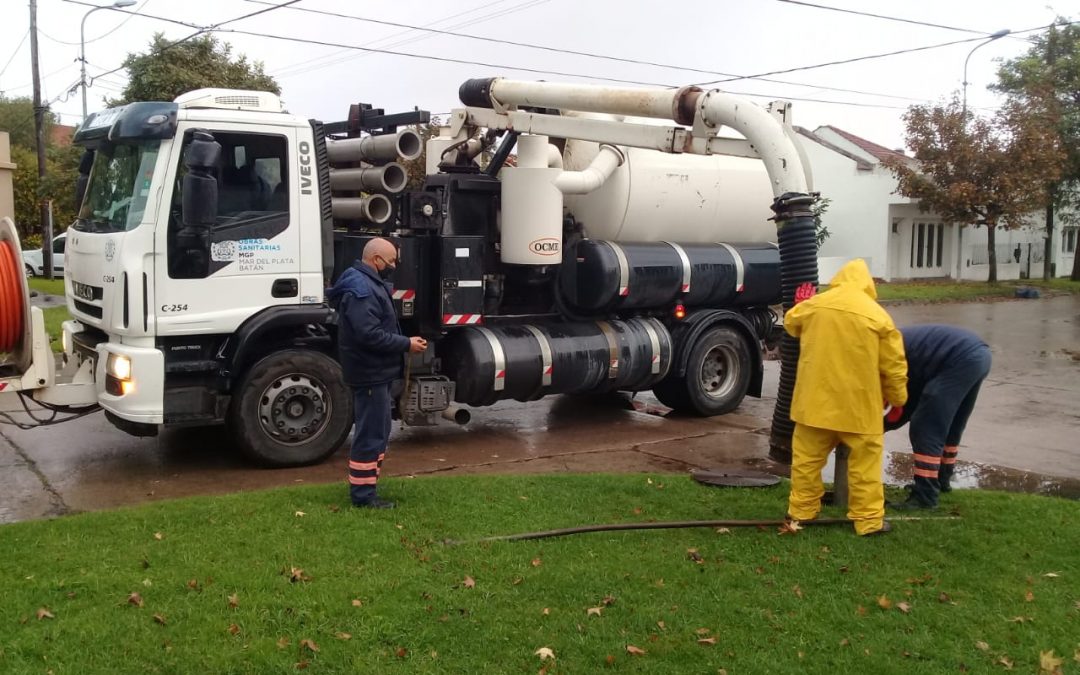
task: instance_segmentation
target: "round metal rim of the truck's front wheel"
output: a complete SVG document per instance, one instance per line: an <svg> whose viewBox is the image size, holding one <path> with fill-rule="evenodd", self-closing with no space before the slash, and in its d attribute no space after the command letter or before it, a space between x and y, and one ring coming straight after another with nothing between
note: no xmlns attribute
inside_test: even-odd
<svg viewBox="0 0 1080 675"><path fill-rule="evenodd" d="M283 445L309 443L326 429L332 411L326 387L299 373L270 382L259 397L262 431Z"/></svg>

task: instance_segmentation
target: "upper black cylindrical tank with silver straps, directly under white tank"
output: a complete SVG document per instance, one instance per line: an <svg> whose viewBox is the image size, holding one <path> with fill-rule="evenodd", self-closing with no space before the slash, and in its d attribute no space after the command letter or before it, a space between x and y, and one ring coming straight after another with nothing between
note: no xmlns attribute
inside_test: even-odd
<svg viewBox="0 0 1080 675"><path fill-rule="evenodd" d="M780 253L772 244L680 244L583 240L559 269L559 293L582 313L780 301Z"/></svg>

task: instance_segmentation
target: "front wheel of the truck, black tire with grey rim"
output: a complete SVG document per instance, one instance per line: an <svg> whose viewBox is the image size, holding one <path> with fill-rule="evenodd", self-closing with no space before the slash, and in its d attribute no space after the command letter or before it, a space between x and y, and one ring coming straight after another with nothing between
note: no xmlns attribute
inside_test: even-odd
<svg viewBox="0 0 1080 675"><path fill-rule="evenodd" d="M247 370L229 407L241 451L264 467L303 467L340 448L352 428L352 393L329 356L288 350Z"/></svg>

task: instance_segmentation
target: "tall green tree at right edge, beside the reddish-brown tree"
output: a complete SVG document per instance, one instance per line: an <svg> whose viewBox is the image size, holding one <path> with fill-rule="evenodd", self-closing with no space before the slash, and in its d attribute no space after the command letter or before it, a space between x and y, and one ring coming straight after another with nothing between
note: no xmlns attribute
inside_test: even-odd
<svg viewBox="0 0 1080 675"><path fill-rule="evenodd" d="M1066 161L1061 179L1049 188L1053 199L1048 205L1047 237L1051 238L1055 211L1066 215L1063 222L1080 212L1080 24L1058 18L1031 42L1027 53L1002 64L994 89L1017 104L1045 99L1055 118ZM1045 274L1050 274L1049 258ZM1080 255L1074 257L1071 279L1080 281Z"/></svg>

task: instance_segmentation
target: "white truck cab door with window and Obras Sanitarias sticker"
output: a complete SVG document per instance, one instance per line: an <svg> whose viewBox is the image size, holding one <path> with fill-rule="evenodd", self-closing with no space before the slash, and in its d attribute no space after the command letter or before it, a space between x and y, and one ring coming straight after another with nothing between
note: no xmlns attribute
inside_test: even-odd
<svg viewBox="0 0 1080 675"><path fill-rule="evenodd" d="M299 302L299 200L296 133L288 127L253 132L243 124L208 130L221 146L212 173L218 184L217 217L208 237L186 237L181 222L184 153L194 124L171 160L172 198L163 199L156 237L152 313L158 335L228 335L252 314ZM200 127L201 131L207 131Z"/></svg>

